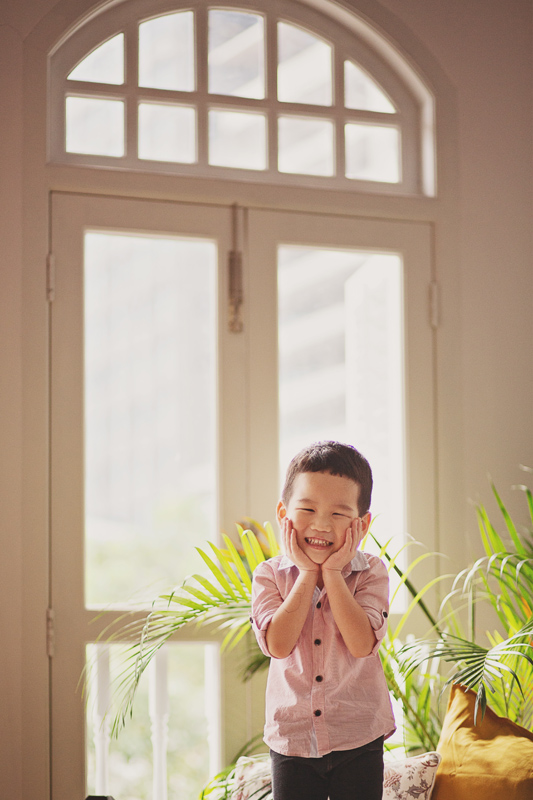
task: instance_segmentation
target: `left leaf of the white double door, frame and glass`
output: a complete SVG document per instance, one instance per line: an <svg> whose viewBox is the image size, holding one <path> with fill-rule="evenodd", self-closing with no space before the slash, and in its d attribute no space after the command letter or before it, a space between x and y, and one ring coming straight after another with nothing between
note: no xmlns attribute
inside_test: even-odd
<svg viewBox="0 0 533 800"><path fill-rule="evenodd" d="M77 684L86 643L135 598L136 586L153 598L163 588L154 578L164 588L183 579L193 545L217 538L247 506L243 337L228 332L227 320L230 222L226 208L53 197L54 798L85 797ZM202 343L207 325L218 352ZM198 374L202 359L212 362L207 376ZM229 434L219 424L228 417ZM216 459L207 472L195 456L206 446ZM206 494L206 508L197 508ZM109 604L117 611L89 624L95 608ZM246 712L236 709L235 719L242 740Z"/></svg>

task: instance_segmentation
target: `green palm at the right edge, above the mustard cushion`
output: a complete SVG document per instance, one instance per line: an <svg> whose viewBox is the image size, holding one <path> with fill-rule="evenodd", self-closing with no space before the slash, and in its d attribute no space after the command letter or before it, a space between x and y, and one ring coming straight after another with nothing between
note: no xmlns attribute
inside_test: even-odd
<svg viewBox="0 0 533 800"><path fill-rule="evenodd" d="M531 470L527 470L531 471ZM444 683L459 683L477 690L474 719L487 706L502 716L533 730L533 497L527 486L516 487L526 498L531 528L520 533L496 487L492 491L502 514L506 536L497 532L486 508L476 506L485 555L461 570L444 598L439 614L438 638L404 645L398 653L406 676L415 673L427 659L453 665ZM488 604L499 626L479 643L476 607ZM468 635L461 624L467 612Z"/></svg>

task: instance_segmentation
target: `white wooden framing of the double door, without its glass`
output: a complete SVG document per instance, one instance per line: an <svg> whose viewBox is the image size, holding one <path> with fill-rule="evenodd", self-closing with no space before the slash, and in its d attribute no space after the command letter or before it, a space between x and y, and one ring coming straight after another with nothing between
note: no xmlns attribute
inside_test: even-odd
<svg viewBox="0 0 533 800"><path fill-rule="evenodd" d="M137 198L53 193L52 249L56 287L51 319L51 608L55 653L51 662L51 743L54 800L83 794L83 703L76 685L85 664L85 644L122 618L108 609L95 620L83 592L83 233L86 230L141 230L163 235L217 233L219 243L219 518L230 531L250 513L273 521L279 496L277 246L301 244L401 253L405 266L406 425L408 530L436 549L434 463L435 408L432 402L433 333L427 315L431 277L430 225L324 213L241 209L247 231L243 246L244 329L229 330L224 287L233 248L230 206L210 207ZM240 227L240 226L239 226ZM255 413L254 413L255 411ZM260 413L258 413L260 412ZM68 498L68 502L65 499ZM141 617L144 614L140 614ZM422 631L420 631L422 633ZM202 641L205 632L182 631L178 641ZM246 647L246 643L243 643ZM225 653L214 676L220 682L222 763L261 729L265 674L242 685L243 652ZM218 666L218 665L217 665ZM66 702L65 698L73 698ZM228 713L231 709L231 713ZM160 720L161 721L161 720ZM161 749L159 750L162 753ZM105 762L105 759L104 759ZM102 762L102 763L104 763Z"/></svg>

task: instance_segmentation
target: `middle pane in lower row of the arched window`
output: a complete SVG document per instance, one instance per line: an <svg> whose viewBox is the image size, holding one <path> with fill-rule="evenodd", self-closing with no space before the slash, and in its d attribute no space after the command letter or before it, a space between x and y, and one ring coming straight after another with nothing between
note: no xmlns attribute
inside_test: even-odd
<svg viewBox="0 0 533 800"><path fill-rule="evenodd" d="M266 119L244 111L209 112L209 163L266 169Z"/></svg>

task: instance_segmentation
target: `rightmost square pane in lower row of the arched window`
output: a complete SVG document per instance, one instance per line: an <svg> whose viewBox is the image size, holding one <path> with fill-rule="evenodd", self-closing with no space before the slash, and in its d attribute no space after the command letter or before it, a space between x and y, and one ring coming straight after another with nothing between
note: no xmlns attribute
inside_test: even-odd
<svg viewBox="0 0 533 800"><path fill-rule="evenodd" d="M400 132L398 128L348 122L346 177L398 183L400 180Z"/></svg>

